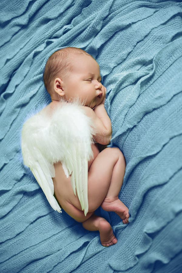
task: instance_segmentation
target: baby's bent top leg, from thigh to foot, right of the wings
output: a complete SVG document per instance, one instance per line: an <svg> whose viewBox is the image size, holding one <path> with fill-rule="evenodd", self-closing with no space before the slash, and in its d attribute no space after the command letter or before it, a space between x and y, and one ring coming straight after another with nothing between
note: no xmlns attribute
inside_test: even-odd
<svg viewBox="0 0 182 273"><path fill-rule="evenodd" d="M128 223L128 208L118 198L125 168L125 158L119 148L108 147L98 154L88 174L89 212L101 205L105 211L116 212L124 224Z"/></svg>

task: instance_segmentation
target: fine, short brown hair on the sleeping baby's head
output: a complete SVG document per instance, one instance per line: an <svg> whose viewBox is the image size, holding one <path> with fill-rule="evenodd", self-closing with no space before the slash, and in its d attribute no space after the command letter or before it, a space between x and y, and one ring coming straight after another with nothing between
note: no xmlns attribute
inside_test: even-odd
<svg viewBox="0 0 182 273"><path fill-rule="evenodd" d="M72 55L85 54L91 56L89 53L77 47L65 47L54 52L48 59L43 80L47 92L53 94L53 82L56 77L66 76L72 72ZM92 56L91 56L92 57Z"/></svg>

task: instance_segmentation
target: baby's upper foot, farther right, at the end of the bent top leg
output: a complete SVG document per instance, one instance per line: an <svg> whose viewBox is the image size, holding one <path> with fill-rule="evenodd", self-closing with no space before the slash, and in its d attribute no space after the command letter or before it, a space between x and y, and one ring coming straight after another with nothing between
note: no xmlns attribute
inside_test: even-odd
<svg viewBox="0 0 182 273"><path fill-rule="evenodd" d="M105 211L114 211L118 214L123 220L123 224L128 223L130 217L129 210L118 197L106 197L101 204L101 207Z"/></svg>

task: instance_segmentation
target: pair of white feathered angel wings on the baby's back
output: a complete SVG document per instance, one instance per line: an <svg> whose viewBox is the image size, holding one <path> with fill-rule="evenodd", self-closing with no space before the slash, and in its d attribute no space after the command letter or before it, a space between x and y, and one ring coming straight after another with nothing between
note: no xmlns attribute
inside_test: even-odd
<svg viewBox="0 0 182 273"><path fill-rule="evenodd" d="M52 116L40 111L27 120L22 128L23 163L29 167L42 188L49 204L62 212L54 194L53 164L61 161L67 177L71 175L74 194L82 210L88 212L88 161L93 157L91 143L95 133L79 100L60 101Z"/></svg>

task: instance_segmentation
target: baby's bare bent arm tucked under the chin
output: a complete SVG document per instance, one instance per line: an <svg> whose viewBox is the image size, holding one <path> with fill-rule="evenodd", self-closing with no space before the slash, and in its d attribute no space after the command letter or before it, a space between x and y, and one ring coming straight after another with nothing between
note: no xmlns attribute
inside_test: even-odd
<svg viewBox="0 0 182 273"><path fill-rule="evenodd" d="M112 135L112 127L111 120L106 112L104 104L99 104L94 108L94 110L88 106L83 107L86 115L92 118L97 131L94 140L102 145L109 144Z"/></svg>

